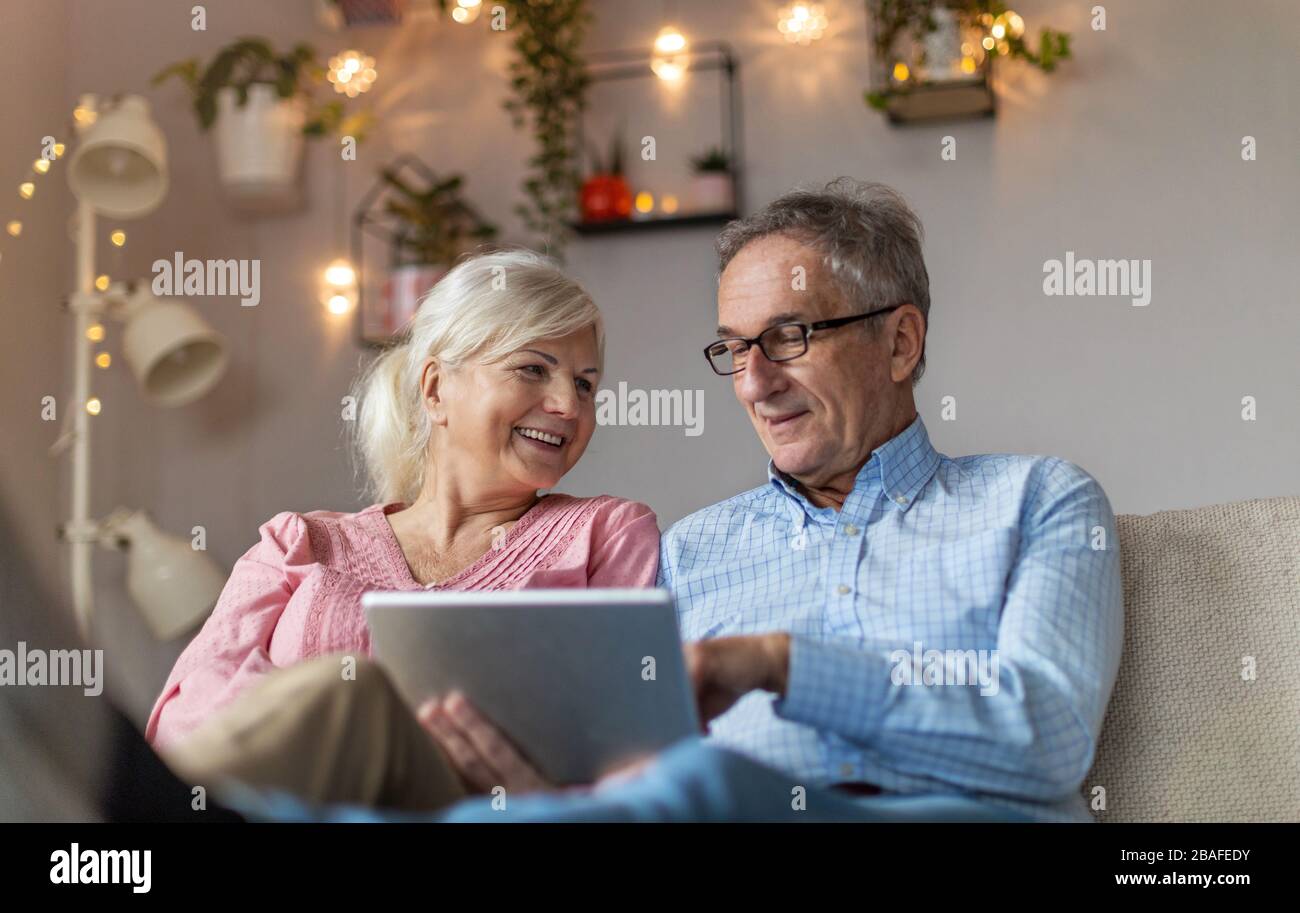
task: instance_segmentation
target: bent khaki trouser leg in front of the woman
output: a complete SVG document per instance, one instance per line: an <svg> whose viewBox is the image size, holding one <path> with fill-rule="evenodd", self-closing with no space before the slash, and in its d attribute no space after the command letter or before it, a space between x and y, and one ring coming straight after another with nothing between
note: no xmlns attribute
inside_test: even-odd
<svg viewBox="0 0 1300 913"><path fill-rule="evenodd" d="M162 752L190 786L222 780L313 802L428 812L464 797L442 748L389 676L328 655L276 670ZM344 678L346 668L355 678Z"/></svg>

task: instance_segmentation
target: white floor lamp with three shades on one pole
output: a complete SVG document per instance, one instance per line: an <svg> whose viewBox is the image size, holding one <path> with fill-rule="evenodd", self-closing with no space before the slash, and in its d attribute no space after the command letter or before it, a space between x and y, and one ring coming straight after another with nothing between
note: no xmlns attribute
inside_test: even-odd
<svg viewBox="0 0 1300 913"><path fill-rule="evenodd" d="M77 196L77 291L72 429L51 447L73 449L72 518L60 536L72 546L73 607L90 640L94 614L91 558L95 544L127 551L127 589L160 640L183 633L207 615L225 575L204 551L178 536L160 533L143 511L117 509L91 519L91 337L103 316L125 324L126 362L146 399L181 406L202 397L226 368L225 338L186 302L155 298L144 284L95 289L95 217L134 218L152 212L168 187L166 140L138 95L98 100L82 96L92 117L77 121L78 147L68 182ZM88 122L87 122L88 121ZM98 401L94 401L98 403ZM98 411L98 407L95 407Z"/></svg>

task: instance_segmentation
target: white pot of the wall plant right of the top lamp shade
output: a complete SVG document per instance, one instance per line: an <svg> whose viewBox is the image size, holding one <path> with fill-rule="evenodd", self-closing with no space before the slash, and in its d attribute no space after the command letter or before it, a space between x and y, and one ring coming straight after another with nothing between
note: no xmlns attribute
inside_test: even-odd
<svg viewBox="0 0 1300 913"><path fill-rule="evenodd" d="M238 104L234 88L217 92L217 174L230 200L242 209L280 211L300 203L303 161L300 99L282 99L273 86L248 87Z"/></svg>

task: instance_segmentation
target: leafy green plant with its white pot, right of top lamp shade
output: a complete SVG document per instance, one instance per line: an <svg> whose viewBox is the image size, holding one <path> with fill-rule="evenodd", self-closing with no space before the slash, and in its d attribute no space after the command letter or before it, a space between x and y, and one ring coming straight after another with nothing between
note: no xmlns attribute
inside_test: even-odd
<svg viewBox="0 0 1300 913"><path fill-rule="evenodd" d="M368 112L344 116L342 100L313 98L324 77L311 46L277 55L260 38L240 38L207 68L196 57L183 60L152 82L178 78L188 87L199 127L214 133L217 174L231 202L278 211L300 200L304 137L338 133L360 140L370 126Z"/></svg>

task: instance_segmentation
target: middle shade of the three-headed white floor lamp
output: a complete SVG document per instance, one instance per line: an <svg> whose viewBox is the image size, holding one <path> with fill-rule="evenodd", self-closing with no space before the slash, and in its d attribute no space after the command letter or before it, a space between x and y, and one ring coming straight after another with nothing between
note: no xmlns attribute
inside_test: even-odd
<svg viewBox="0 0 1300 913"><path fill-rule="evenodd" d="M226 371L226 338L178 298L156 298L142 286L124 317L122 351L144 398L185 406L211 390Z"/></svg>

